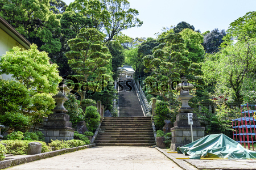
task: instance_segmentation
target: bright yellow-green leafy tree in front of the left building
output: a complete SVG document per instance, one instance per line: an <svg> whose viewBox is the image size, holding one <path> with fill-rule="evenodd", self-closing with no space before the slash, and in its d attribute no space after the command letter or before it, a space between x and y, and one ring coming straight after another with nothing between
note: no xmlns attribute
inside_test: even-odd
<svg viewBox="0 0 256 170"><path fill-rule="evenodd" d="M52 113L55 107L52 95L57 94L61 77L57 65L49 63L46 52L39 52L35 44L29 50L17 46L1 57L0 67L0 74L12 74L29 91L31 103L22 109L31 115L32 124Z"/></svg>

